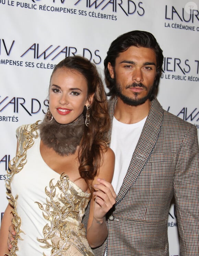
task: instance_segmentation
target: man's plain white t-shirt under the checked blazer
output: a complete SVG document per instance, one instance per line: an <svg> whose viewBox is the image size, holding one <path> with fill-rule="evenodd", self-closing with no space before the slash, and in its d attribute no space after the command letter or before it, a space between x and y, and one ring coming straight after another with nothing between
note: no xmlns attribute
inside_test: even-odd
<svg viewBox="0 0 199 256"><path fill-rule="evenodd" d="M112 185L116 194L119 193L146 119L147 117L138 123L124 124L113 118L110 148L115 153Z"/></svg>

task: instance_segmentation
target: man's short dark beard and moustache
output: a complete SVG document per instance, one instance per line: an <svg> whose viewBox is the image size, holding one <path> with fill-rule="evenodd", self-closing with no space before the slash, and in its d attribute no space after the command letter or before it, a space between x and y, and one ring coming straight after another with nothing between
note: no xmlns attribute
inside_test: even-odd
<svg viewBox="0 0 199 256"><path fill-rule="evenodd" d="M142 87L144 90L147 90L146 86L143 85L142 83L132 83L131 85L127 85L126 86L126 89L128 88L133 88L133 87ZM137 92L134 92L133 95L134 95L134 99L130 98L130 97L127 97L125 96L124 94L122 94L122 90L121 90L121 85L120 83L116 83L115 84L115 91L116 91L116 95L127 105L130 105L130 106L138 106L138 105L141 105L143 104L147 99L150 99L151 96L155 93L155 86L153 85L150 89L149 89L149 92L148 94L141 98L141 99L138 99L138 95L139 93Z"/></svg>

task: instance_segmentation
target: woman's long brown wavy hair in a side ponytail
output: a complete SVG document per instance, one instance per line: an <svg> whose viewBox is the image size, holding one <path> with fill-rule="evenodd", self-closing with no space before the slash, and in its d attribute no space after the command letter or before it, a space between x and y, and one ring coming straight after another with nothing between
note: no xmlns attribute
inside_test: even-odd
<svg viewBox="0 0 199 256"><path fill-rule="evenodd" d="M75 55L65 58L56 65L52 74L59 68L67 68L82 74L87 81L88 97L94 94L89 111L90 125L87 127L84 124L84 132L78 151L80 176L92 192L90 181L97 175L97 170L103 160L101 160L103 152L108 147L105 133L109 129L110 122L104 85L96 66L81 56ZM84 117L85 112L86 109L83 112Z"/></svg>

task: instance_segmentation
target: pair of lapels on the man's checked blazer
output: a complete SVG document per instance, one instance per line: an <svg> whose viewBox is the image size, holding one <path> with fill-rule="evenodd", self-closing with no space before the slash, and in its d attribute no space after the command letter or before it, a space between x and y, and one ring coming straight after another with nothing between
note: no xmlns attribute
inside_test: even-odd
<svg viewBox="0 0 199 256"><path fill-rule="evenodd" d="M112 102L112 107L110 108L112 113L112 115L110 115L112 119L111 130L114 115L113 107L115 109L116 102L117 99L114 98L114 101ZM144 169L145 164L148 162L150 155L153 152L153 148L158 140L161 131L162 121L163 109L157 99L154 99L151 102L149 115L142 129L142 133L140 135L136 149L134 150L134 153L132 155L127 174L124 178L124 182L122 183L120 191L117 195L116 205L122 200L130 187L132 187L136 180L139 178L139 175Z"/></svg>

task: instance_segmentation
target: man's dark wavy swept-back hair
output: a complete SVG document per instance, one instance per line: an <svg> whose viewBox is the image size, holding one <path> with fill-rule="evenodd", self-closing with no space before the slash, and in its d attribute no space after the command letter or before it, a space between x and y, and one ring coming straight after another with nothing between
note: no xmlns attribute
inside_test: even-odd
<svg viewBox="0 0 199 256"><path fill-rule="evenodd" d="M153 100L155 97L155 92L158 88L160 83L160 76L161 76L161 68L163 64L163 54L160 45L157 43L155 37L147 31L139 31L134 30L127 32L125 34L120 35L117 37L111 44L107 51L107 56L104 60L104 68L105 68L105 77L109 82L107 85L108 89L110 90L107 95L114 96L116 94L115 91L115 79L110 77L108 71L108 62L115 67L115 60L119 56L119 53L126 51L129 47L136 46L136 47L145 47L154 50L156 55L157 61L157 74L154 80L154 93L151 95L150 100Z"/></svg>

